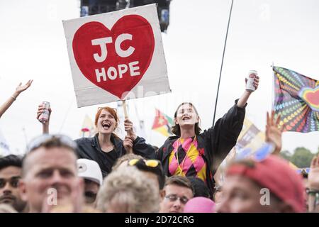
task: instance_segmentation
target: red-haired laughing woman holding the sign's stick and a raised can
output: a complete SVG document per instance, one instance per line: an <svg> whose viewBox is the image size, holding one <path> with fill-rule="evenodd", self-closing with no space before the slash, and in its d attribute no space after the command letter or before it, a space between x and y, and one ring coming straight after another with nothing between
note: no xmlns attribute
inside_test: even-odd
<svg viewBox="0 0 319 227"><path fill-rule="evenodd" d="M51 109L49 109L51 114ZM43 113L43 106L38 107L38 118ZM49 120L43 122L43 133L49 133ZM142 157L152 159L155 157L155 152L152 146L147 145L143 138L135 135L133 131L133 123L129 119L125 119L125 131L129 135L125 136L124 140L118 138L114 133L116 130L119 118L116 110L111 107L100 107L96 112L95 126L98 133L91 138L79 138L75 140L78 149L79 158L86 158L98 162L101 167L103 177L106 177L111 172L112 166L118 159L129 153L133 148L133 153Z"/></svg>

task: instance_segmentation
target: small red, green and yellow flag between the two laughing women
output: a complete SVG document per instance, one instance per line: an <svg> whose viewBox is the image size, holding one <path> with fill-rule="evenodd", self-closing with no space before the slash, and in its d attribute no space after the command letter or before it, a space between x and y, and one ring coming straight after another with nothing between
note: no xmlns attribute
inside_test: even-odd
<svg viewBox="0 0 319 227"><path fill-rule="evenodd" d="M155 131L158 131L162 135L168 137L169 135L173 135L171 128L174 124L174 121L172 118L167 116L166 114L163 114L158 109L155 109L156 116L154 119L154 123L152 126L152 129Z"/></svg>

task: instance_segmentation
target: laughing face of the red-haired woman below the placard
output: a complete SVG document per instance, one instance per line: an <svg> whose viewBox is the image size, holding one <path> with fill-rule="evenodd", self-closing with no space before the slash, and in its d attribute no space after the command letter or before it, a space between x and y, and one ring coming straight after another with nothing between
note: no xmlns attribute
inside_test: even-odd
<svg viewBox="0 0 319 227"><path fill-rule="evenodd" d="M106 109L102 109L99 118L96 121L96 128L99 133L111 134L118 126L117 118L114 113Z"/></svg>

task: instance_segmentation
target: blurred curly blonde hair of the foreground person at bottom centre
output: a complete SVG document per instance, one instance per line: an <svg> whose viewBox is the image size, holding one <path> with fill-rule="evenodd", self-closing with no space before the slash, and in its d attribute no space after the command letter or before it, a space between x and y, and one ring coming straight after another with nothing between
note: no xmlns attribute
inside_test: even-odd
<svg viewBox="0 0 319 227"><path fill-rule="evenodd" d="M148 213L159 211L159 189L135 167L121 167L103 182L97 198L102 212Z"/></svg>

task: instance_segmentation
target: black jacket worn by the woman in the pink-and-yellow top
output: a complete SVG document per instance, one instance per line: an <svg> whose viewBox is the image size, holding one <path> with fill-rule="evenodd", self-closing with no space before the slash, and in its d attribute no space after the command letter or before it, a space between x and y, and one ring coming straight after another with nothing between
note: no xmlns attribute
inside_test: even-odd
<svg viewBox="0 0 319 227"><path fill-rule="evenodd" d="M237 101L238 99L223 118L218 119L215 126L197 135L198 151L203 154L203 160L207 165L206 183L211 194L213 194L215 184L213 175L215 175L220 163L223 162L230 150L235 146L238 135L242 130L242 124L245 118L245 107L238 107ZM157 153L157 159L161 160L164 173L167 176L169 176L169 155L174 150L173 143L178 138L178 136L167 138Z"/></svg>

